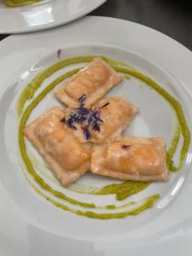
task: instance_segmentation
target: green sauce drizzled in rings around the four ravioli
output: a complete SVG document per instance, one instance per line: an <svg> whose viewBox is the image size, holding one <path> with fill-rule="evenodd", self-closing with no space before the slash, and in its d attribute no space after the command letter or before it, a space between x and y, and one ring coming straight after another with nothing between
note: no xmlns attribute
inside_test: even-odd
<svg viewBox="0 0 192 256"><path fill-rule="evenodd" d="M76 63L82 63L82 62L90 62L93 60L95 56L93 55L87 55L83 57L75 57L70 58L63 61L58 61L54 65L48 67L46 70L44 70L42 73L39 73L34 79L32 79L32 82L26 86L26 89L23 90L23 92L20 95L20 99L18 102L18 114L21 115L20 118L20 125L19 125L19 145L20 145L20 154L22 156L22 159L26 165L27 171L32 175L34 180L40 185L40 187L46 191L49 191L52 195L55 195L58 198L61 198L64 201L68 201L72 203L73 205L78 205L81 207L87 207L87 208L96 208L95 204L92 203L85 203L81 201L76 201L73 198L68 197L67 195L61 193L60 191L57 191L49 186L48 183L44 182L44 179L42 177L39 177L37 172L35 172L32 161L28 157L26 153L26 143L23 135L23 129L26 126L26 121L29 118L30 114L32 113L32 110L38 106L38 103L41 102L41 100L49 93L50 90L53 90L57 84L60 84L63 80L69 78L73 74L77 73L79 69L75 69L73 71L70 71L68 73L65 73L55 79L52 83L50 83L44 90L42 90L37 97L35 97L33 100L33 96L41 86L41 84L44 82L44 80L48 79L49 76L51 76L56 71L60 70L63 67L67 67L69 65L73 65ZM177 143L178 143L178 136L174 135L172 139L172 145L171 148L168 150L167 154L167 163L170 167L170 170L176 171L180 166L182 166L183 160L185 159L185 155L187 154L188 148L189 148L189 141L190 141L190 134L189 134L189 128L185 121L183 110L181 105L177 102L175 98L173 98L166 90L160 87L159 84L156 84L152 79L149 79L147 76L143 75L142 73L138 73L135 69L128 69L125 67L124 63L110 60L106 57L106 61L110 65L112 65L118 72L124 73L125 75L133 76L137 79L142 80L145 82L148 86L156 90L161 96L163 96L167 102L169 102L172 105L172 108L175 110L177 114L178 124L181 129L181 133L183 135L183 148L181 150L180 155L180 162L179 166L175 167L173 166L172 157L176 151ZM25 107L26 102L29 100L32 100L30 104L27 106L27 108L23 111L23 108ZM178 132L180 134L180 130ZM176 133L177 134L177 133ZM125 182L121 183L119 185L112 184L109 186L106 186L99 191L97 191L96 195L109 195L109 194L115 194L116 198L118 200L123 200L125 197L129 195L136 194L139 191L142 191L143 189L147 188L149 183L143 183L143 182ZM37 188L35 188L38 190ZM42 192L41 192L42 193ZM61 209L69 212L73 212L82 216L86 216L89 218L124 218L128 215L136 215L139 212L143 212L143 210L147 209L148 207L152 207L154 205L154 202L159 198L159 195L153 195L151 197L146 198L143 201L143 205L141 207L138 207L135 210L132 211L126 211L126 212L119 212L119 213L96 213L96 212L82 212L82 211L76 211L73 210L49 197L46 195L43 195L48 201L50 201L52 204L54 204L56 207L60 207ZM126 207L127 205L123 205L120 207ZM99 207L98 207L99 208ZM109 205L105 207L106 209L116 209L119 207L115 207L114 205Z"/></svg>

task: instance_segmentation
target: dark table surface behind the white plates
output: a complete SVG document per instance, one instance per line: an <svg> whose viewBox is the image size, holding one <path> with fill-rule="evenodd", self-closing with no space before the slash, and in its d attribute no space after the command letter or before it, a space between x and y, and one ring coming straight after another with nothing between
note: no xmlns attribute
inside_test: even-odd
<svg viewBox="0 0 192 256"><path fill-rule="evenodd" d="M131 20L152 27L192 50L192 2L188 0L108 0L90 15ZM0 35L0 40L8 35Z"/></svg>

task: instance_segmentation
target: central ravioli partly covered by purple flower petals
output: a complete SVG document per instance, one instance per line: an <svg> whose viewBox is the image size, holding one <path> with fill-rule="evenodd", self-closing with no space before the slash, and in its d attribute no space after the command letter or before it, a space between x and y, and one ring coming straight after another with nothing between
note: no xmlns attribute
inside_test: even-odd
<svg viewBox="0 0 192 256"><path fill-rule="evenodd" d="M118 138L137 114L137 108L135 106L118 96L100 100L93 109L99 112L99 118L102 119L102 123L100 123L100 131L93 130L90 125L89 143L108 143ZM69 117L69 113L73 113L73 110L70 108L65 110L66 119ZM73 130L75 136L79 137L82 143L87 142L82 125L88 125L88 120L85 120L81 125L74 125L77 128Z"/></svg>

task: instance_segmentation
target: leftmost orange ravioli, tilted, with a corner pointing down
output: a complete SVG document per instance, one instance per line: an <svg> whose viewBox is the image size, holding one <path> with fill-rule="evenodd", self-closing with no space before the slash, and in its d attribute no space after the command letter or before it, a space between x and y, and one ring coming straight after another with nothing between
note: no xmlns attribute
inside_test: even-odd
<svg viewBox="0 0 192 256"><path fill-rule="evenodd" d="M64 112L53 107L24 129L28 140L47 161L65 187L90 170L90 153L67 125L61 123Z"/></svg>

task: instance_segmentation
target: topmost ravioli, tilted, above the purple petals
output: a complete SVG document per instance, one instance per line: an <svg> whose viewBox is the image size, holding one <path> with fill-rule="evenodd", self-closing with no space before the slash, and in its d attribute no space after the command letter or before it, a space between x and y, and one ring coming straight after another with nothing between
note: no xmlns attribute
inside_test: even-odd
<svg viewBox="0 0 192 256"><path fill-rule="evenodd" d="M79 107L79 97L87 96L86 107L96 103L108 90L119 84L123 77L102 58L95 58L71 79L55 89L55 96L69 108Z"/></svg>

